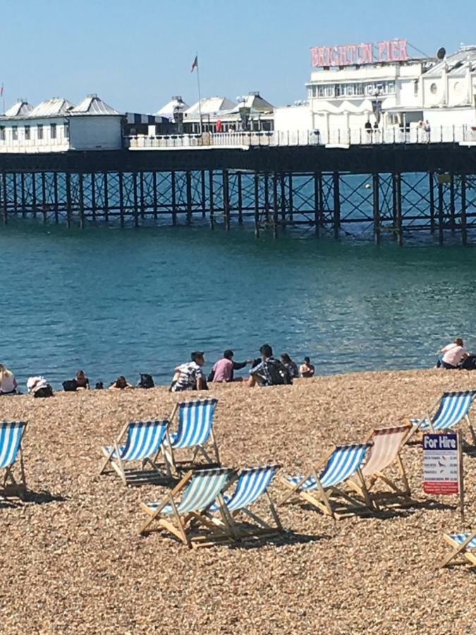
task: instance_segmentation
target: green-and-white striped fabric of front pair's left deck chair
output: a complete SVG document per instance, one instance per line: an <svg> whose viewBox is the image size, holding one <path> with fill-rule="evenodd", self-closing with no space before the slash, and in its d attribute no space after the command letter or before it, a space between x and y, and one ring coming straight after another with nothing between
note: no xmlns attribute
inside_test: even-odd
<svg viewBox="0 0 476 635"><path fill-rule="evenodd" d="M233 475L230 468L214 468L197 470L184 490L181 502L177 505L178 514L188 512L202 512L210 506L224 489L226 483ZM161 502L149 502L147 507L151 512L156 512ZM173 507L167 504L161 508L162 514L173 514Z"/></svg>

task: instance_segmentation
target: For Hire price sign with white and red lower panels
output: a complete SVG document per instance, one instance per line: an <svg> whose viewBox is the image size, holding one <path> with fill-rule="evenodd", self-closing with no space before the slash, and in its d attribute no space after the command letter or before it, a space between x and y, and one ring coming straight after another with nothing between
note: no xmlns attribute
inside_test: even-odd
<svg viewBox="0 0 476 635"><path fill-rule="evenodd" d="M423 435L423 490L427 494L462 494L460 440L456 433Z"/></svg>

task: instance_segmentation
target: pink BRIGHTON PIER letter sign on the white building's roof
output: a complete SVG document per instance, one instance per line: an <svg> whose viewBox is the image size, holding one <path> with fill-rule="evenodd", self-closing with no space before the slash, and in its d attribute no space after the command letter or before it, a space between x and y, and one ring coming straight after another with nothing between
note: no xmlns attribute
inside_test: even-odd
<svg viewBox="0 0 476 635"><path fill-rule="evenodd" d="M406 40L384 40L373 44L341 44L338 47L312 47L311 66L353 66L408 59Z"/></svg>

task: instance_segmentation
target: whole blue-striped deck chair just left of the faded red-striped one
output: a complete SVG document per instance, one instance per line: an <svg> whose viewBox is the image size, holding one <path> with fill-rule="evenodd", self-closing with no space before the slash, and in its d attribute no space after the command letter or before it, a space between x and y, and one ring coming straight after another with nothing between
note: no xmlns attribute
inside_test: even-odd
<svg viewBox="0 0 476 635"><path fill-rule="evenodd" d="M290 488L290 492L279 502L279 506L290 499L309 502L334 520L353 512L372 510L372 500L362 476L362 464L372 443L338 445L326 458L305 476L281 477L281 483ZM318 476L319 474L319 476ZM343 490L343 485L351 476L357 474L363 498L353 492ZM352 485L350 485L352 487ZM346 501L340 507L337 500Z"/></svg>

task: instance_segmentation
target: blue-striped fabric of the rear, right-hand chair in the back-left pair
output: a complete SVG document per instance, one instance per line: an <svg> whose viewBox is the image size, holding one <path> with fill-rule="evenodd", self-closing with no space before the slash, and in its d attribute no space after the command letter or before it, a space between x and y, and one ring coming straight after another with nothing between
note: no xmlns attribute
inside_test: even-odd
<svg viewBox="0 0 476 635"><path fill-rule="evenodd" d="M194 447L205 444L212 432L217 399L184 401L178 409L178 430L171 435L171 447Z"/></svg>

